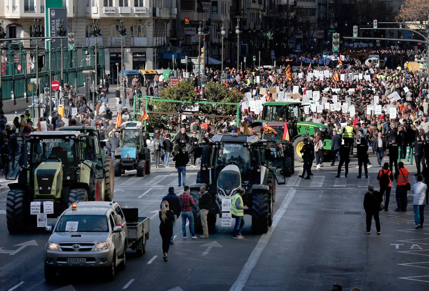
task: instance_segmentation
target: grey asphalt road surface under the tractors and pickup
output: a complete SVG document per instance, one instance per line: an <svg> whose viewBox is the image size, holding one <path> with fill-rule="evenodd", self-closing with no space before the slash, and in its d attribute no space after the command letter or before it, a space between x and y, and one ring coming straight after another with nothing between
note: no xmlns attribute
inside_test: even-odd
<svg viewBox="0 0 429 291"><path fill-rule="evenodd" d="M373 158L371 158L373 159ZM278 185L275 221L269 233L250 233L246 215L244 239L232 238L232 227L221 227L209 239L182 239L181 220L176 223L175 244L169 261L162 259L156 211L169 186L177 187L174 167L152 168L145 177L129 171L115 179L115 197L121 206L139 208L139 215L153 216L145 255L127 253L127 267L106 282L95 270L70 270L57 282L43 276L43 250L49 234L9 234L6 228L6 191L0 194L0 284L2 290L429 290L428 227L414 230L412 206L408 212L381 212L381 236L365 231L363 195L376 183L378 167L369 179L356 179L356 160L349 178L335 178L336 167L325 163L314 169L311 180L296 174ZM415 173L415 166L406 166ZM414 171L414 172L413 172ZM195 182L196 168L187 167L187 184ZM414 176L411 177L414 182ZM3 183L1 183L4 185ZM395 188L395 186L393 187ZM177 189L176 194L180 194ZM411 193L409 193L411 195ZM409 205L412 197L408 197ZM411 201L411 202L410 202ZM429 219L429 209L426 209ZM48 219L54 224L55 219Z"/></svg>

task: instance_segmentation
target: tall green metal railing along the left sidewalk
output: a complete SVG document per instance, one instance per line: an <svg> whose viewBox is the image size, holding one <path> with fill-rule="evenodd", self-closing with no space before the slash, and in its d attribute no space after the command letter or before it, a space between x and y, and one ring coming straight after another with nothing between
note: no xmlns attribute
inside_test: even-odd
<svg viewBox="0 0 429 291"><path fill-rule="evenodd" d="M15 62L15 52L12 49L12 45L9 45L8 51L8 61L6 62L6 74L2 76L2 91L3 91L3 101L12 99L12 92L15 94L15 99L24 98L25 94L27 96L36 95L36 92L27 93L27 86L30 84L30 79L36 79L36 72L33 69L31 73L27 73L27 60L30 58L30 53L33 56L36 56L36 50L29 52L24 50L24 46L19 45L19 61ZM52 49L52 56L49 56L49 50L45 50L45 58L43 64L39 64L39 78L42 79L40 84L39 92L42 93L43 87L49 83L49 60L52 60L51 65L51 76L52 80L54 76L60 76L61 73L61 49ZM89 62L86 59L86 56L90 55ZM63 80L64 82L70 82L73 86L78 88L83 87L85 82L85 77L82 74L83 70L94 70L94 46L90 45L89 47L82 47L82 58L80 59L80 64L78 64L77 50L69 51L67 48L63 48ZM98 83L103 78L105 73L105 63L104 63L104 45L98 45ZM34 66L36 67L36 62L38 58L34 58ZM18 71L18 64L21 64L21 71ZM75 84L75 79L77 79L77 84ZM59 80L60 81L60 80ZM63 84L60 84L61 86Z"/></svg>

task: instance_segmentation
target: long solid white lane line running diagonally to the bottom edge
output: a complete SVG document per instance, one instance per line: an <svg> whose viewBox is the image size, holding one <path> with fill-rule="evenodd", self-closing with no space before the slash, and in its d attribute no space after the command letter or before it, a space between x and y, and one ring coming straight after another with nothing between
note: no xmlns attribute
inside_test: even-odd
<svg viewBox="0 0 429 291"><path fill-rule="evenodd" d="M268 241L272 235L272 233L275 230L275 227L277 226L278 222L280 221L281 217L284 215L284 212L286 212L287 207L290 204L290 201L292 201L293 196L295 195L296 189L292 189L290 191L289 195L286 195L284 197L283 202L281 203L280 208L275 212L274 215L274 221L272 222L272 226L269 228L268 233L263 234L255 248L253 249L251 255L249 256L246 264L244 265L243 269L241 270L239 276L236 279L236 282L234 285L231 286L230 291L237 291L237 290L243 290L243 288L246 285L246 282L248 281L254 267L256 266L260 255L262 254L263 250L265 249L266 245L268 244Z"/></svg>

